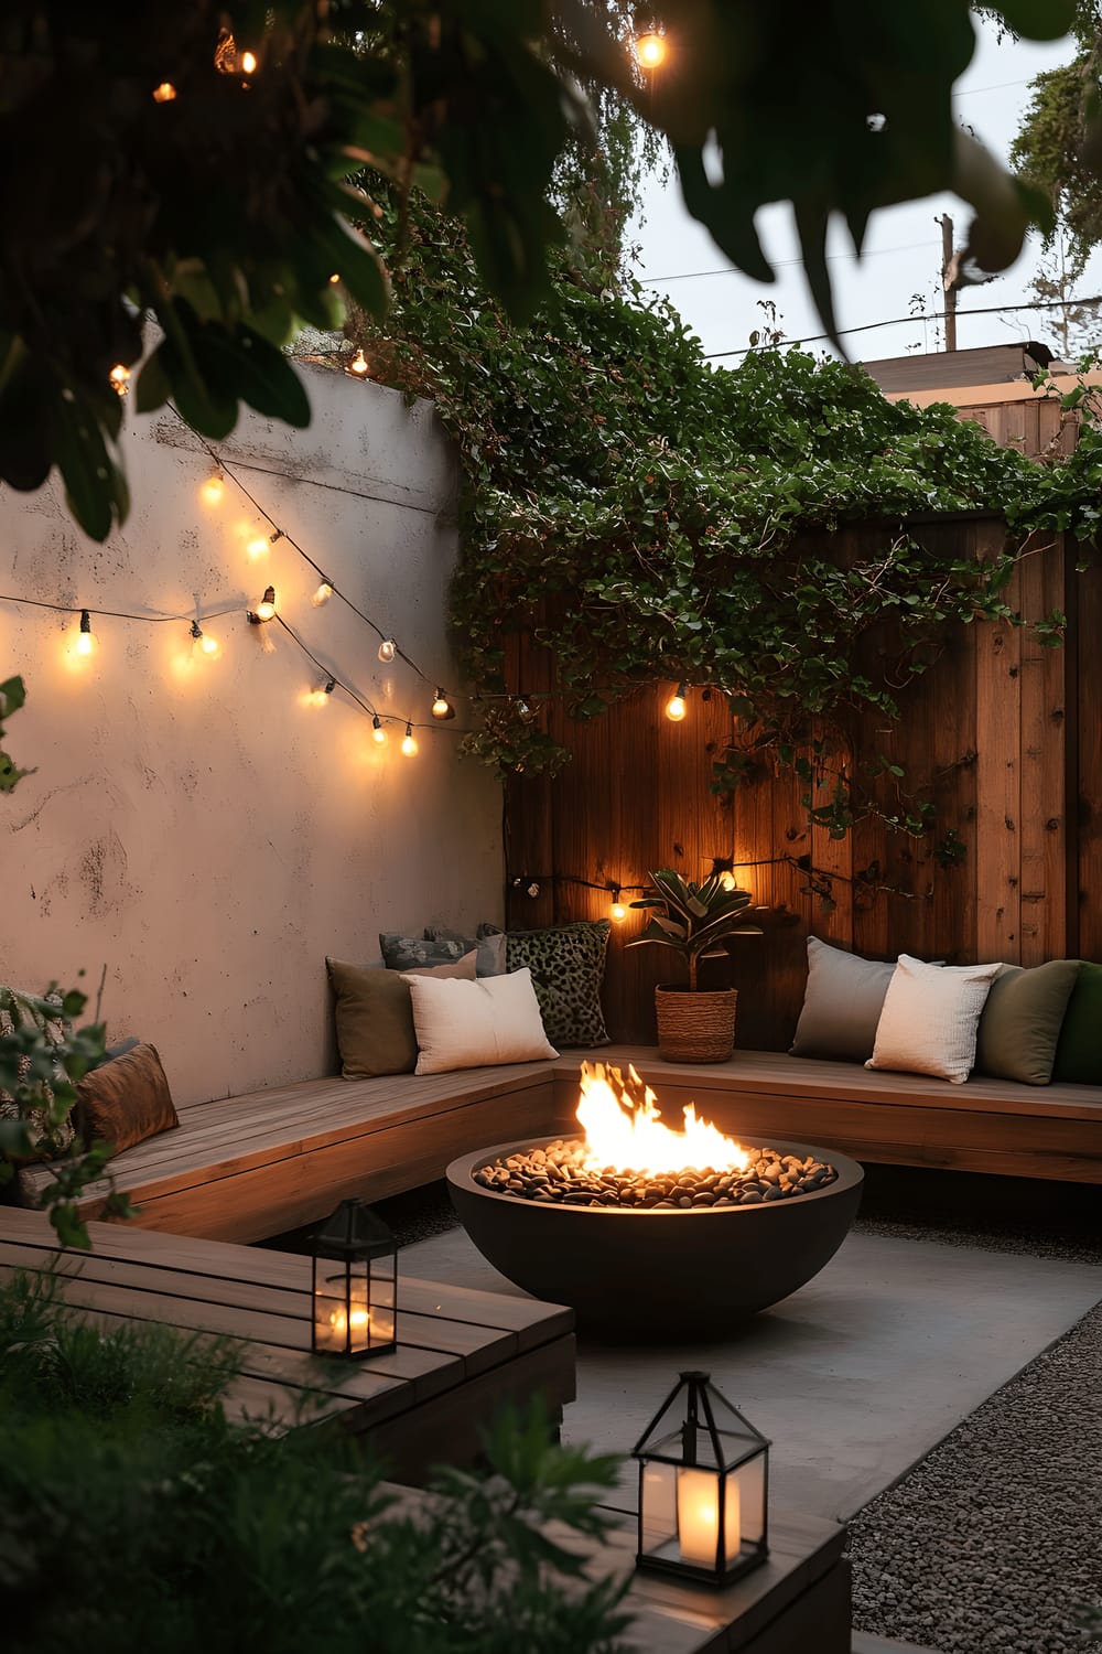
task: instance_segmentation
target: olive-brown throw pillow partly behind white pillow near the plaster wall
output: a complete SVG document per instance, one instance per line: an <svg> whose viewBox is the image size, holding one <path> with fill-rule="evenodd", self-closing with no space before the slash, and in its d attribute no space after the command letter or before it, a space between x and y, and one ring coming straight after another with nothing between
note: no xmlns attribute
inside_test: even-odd
<svg viewBox="0 0 1102 1654"><path fill-rule="evenodd" d="M340 1073L373 1080L380 1073L413 1073L416 1034L410 989L397 971L325 959L332 982ZM474 981L474 949L451 964L426 968L428 976Z"/></svg>

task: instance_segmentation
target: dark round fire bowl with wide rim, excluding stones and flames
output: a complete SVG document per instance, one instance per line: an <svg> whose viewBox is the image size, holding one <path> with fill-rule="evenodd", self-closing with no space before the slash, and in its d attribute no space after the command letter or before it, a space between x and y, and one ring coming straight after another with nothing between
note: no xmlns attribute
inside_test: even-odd
<svg viewBox="0 0 1102 1654"><path fill-rule="evenodd" d="M653 1343L724 1338L823 1269L861 1202L856 1159L806 1143L768 1146L829 1161L838 1179L811 1194L758 1206L639 1211L544 1206L494 1194L473 1173L547 1138L499 1143L448 1166L448 1189L482 1257L535 1298L570 1303L598 1336Z"/></svg>

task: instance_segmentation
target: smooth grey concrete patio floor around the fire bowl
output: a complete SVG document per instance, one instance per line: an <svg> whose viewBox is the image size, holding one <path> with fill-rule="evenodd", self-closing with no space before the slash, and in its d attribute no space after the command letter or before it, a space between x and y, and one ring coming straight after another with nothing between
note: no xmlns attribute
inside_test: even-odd
<svg viewBox="0 0 1102 1654"><path fill-rule="evenodd" d="M405 1247L400 1267L519 1292L461 1229ZM704 1368L772 1439L777 1503L844 1520L1100 1297L1095 1264L854 1231L815 1280L714 1345L582 1336L563 1439L628 1452L677 1373Z"/></svg>

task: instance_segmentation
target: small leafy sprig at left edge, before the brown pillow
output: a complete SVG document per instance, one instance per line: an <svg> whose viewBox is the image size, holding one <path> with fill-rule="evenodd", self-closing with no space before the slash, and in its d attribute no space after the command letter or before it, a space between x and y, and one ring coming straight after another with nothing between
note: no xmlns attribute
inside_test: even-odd
<svg viewBox="0 0 1102 1654"><path fill-rule="evenodd" d="M56 982L45 994L0 987L0 1184L20 1163L53 1159L73 1146L78 1082L107 1057L101 1022L73 1025L86 1004L78 989L63 994ZM89 1247L78 1197L104 1176L111 1154L107 1143L78 1145L56 1161L43 1206L63 1245ZM112 1189L104 1216L129 1217L132 1206Z"/></svg>

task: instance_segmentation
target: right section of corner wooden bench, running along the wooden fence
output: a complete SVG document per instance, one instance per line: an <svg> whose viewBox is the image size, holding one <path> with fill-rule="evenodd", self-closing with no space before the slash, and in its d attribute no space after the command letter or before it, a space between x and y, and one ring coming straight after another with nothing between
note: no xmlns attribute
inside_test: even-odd
<svg viewBox="0 0 1102 1654"><path fill-rule="evenodd" d="M730 1136L790 1138L862 1161L1102 1183L1102 1088L1094 1085L950 1085L775 1050L737 1050L720 1064L663 1062L638 1045L593 1055L633 1062L669 1125L696 1102L697 1113ZM558 1113L568 1116L577 1064L555 1067Z"/></svg>

